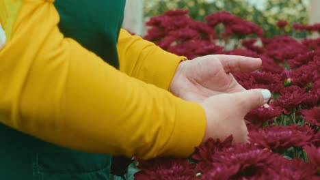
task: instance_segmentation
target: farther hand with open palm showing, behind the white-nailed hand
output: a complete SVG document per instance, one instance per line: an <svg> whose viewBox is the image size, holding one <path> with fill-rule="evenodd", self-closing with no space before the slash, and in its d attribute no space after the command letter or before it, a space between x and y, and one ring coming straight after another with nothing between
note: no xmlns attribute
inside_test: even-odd
<svg viewBox="0 0 320 180"><path fill-rule="evenodd" d="M220 93L244 91L231 72L252 72L260 66L261 59L232 55L208 55L183 61L176 69L169 91L192 102L202 102Z"/></svg>

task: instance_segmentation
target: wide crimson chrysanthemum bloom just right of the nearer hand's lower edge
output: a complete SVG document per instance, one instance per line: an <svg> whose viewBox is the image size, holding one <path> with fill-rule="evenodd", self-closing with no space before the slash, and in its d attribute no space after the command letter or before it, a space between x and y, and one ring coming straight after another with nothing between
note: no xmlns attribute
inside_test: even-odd
<svg viewBox="0 0 320 180"><path fill-rule="evenodd" d="M297 126L265 126L249 133L249 140L258 147L271 150L285 150L290 147L302 147L313 142L315 134L311 128ZM305 130L305 129L303 129Z"/></svg>

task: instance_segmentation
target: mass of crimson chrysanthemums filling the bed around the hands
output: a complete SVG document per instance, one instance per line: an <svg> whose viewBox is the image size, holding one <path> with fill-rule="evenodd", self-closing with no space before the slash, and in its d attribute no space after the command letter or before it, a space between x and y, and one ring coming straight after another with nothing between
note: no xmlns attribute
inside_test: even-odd
<svg viewBox="0 0 320 180"><path fill-rule="evenodd" d="M232 143L232 135L209 139L188 160L139 161L135 179L319 179L320 38L264 38L260 27L228 12L211 14L205 23L187 13L176 10L151 18L146 39L189 59L209 54L259 57L260 70L233 75L245 89L269 89L273 97L269 107L245 116L250 143ZM225 30L222 38L215 31L219 24ZM320 30L320 24L292 27ZM226 37L240 37L237 48L218 44Z"/></svg>

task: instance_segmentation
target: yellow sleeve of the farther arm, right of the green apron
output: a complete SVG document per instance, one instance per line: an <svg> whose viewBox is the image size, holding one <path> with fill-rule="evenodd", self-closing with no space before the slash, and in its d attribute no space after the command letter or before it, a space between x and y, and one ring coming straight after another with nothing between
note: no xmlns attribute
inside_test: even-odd
<svg viewBox="0 0 320 180"><path fill-rule="evenodd" d="M167 90L178 63L185 60L124 29L120 31L117 49L120 71Z"/></svg>

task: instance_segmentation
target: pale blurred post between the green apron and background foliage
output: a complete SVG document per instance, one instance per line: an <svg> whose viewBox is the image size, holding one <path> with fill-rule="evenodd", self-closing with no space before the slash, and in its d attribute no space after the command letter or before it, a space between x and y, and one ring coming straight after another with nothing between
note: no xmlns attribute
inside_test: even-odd
<svg viewBox="0 0 320 180"><path fill-rule="evenodd" d="M126 0L122 27L137 35L144 33L144 1Z"/></svg>

